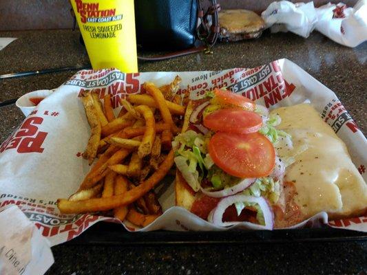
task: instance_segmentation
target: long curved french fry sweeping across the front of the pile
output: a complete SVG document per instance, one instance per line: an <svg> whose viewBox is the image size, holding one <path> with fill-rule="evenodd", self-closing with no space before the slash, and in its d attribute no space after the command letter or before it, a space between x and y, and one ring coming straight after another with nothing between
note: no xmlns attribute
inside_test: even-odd
<svg viewBox="0 0 367 275"><path fill-rule="evenodd" d="M174 151L170 151L160 167L146 181L136 186L132 190L128 190L123 195L114 195L108 198L85 199L83 201L68 201L67 199L58 199L57 206L61 213L74 214L85 212L105 211L117 208L119 206L127 206L138 198L143 197L149 190L154 188L174 164Z"/></svg>

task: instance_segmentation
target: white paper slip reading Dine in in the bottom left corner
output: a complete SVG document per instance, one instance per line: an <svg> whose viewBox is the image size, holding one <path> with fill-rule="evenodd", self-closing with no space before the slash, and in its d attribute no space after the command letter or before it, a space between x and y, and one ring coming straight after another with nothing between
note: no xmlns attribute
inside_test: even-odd
<svg viewBox="0 0 367 275"><path fill-rule="evenodd" d="M0 274L45 274L54 263L50 242L17 206L0 212Z"/></svg>

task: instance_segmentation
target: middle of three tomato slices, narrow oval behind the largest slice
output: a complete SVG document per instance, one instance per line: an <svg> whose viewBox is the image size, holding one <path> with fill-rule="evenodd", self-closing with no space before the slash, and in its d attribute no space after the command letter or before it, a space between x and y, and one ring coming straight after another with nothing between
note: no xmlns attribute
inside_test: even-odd
<svg viewBox="0 0 367 275"><path fill-rule="evenodd" d="M262 118L253 111L243 109L220 109L206 115L204 126L213 131L229 133L255 133L262 126Z"/></svg>

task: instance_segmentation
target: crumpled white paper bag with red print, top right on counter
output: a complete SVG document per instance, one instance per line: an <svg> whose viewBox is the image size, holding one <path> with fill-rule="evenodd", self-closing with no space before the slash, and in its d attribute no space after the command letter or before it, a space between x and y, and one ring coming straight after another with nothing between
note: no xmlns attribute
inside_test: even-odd
<svg viewBox="0 0 367 275"><path fill-rule="evenodd" d="M313 2L277 1L262 12L262 19L271 32L293 32L307 38L315 29L348 47L367 40L367 0L359 0L354 8L344 3L315 8Z"/></svg>

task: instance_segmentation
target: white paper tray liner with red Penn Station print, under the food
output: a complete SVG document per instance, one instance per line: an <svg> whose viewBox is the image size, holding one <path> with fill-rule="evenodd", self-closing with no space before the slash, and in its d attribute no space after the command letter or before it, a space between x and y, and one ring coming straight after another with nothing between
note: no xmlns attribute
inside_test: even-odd
<svg viewBox="0 0 367 275"><path fill-rule="evenodd" d="M83 104L78 94L83 89L112 94L114 105L126 94L136 94L149 80L156 85L169 83L176 75L181 88L191 87L191 98L198 99L214 87L227 87L266 107L288 106L309 100L322 118L346 142L350 155L366 180L367 141L333 91L303 69L281 59L253 69L226 69L217 72L151 72L123 74L117 70L78 72L43 100L0 147L0 209L16 204L34 221L53 245L68 241L94 223L108 217L92 214L59 214L56 199L69 197L80 185L90 166L81 157L90 135ZM114 106L115 113L120 107ZM160 202L165 213L143 231L149 230L228 230L218 228L187 210L174 207L173 186L165 184ZM304 225L327 222L326 213L317 214ZM359 225L358 228L353 225ZM366 217L333 221L331 225L367 231ZM128 223L128 230L138 231ZM235 228L253 228L236 225Z"/></svg>

